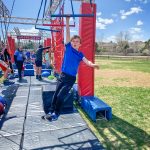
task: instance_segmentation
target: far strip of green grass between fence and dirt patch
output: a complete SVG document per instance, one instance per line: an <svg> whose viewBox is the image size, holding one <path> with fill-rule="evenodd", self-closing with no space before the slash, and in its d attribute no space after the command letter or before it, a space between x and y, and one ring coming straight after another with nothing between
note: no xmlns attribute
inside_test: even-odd
<svg viewBox="0 0 150 150"><path fill-rule="evenodd" d="M104 60L97 59L101 69L124 69L150 73L150 61L146 60Z"/></svg>

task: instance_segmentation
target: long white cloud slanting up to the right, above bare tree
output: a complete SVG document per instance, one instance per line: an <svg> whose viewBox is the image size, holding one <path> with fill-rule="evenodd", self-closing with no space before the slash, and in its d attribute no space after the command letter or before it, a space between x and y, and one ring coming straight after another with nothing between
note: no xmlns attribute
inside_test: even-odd
<svg viewBox="0 0 150 150"><path fill-rule="evenodd" d="M132 7L129 11L120 10L121 19L126 19L127 16L130 16L132 14L138 14L139 12L142 12L143 10L140 7Z"/></svg>

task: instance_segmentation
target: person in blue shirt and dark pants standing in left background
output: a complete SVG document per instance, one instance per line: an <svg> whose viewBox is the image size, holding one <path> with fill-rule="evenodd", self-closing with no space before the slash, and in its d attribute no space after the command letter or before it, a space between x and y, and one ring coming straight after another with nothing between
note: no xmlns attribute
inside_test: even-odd
<svg viewBox="0 0 150 150"><path fill-rule="evenodd" d="M25 61L25 55L22 51L22 47L19 46L19 48L14 53L14 60L18 69L18 77L19 82L22 80L22 69L23 69L23 63Z"/></svg>

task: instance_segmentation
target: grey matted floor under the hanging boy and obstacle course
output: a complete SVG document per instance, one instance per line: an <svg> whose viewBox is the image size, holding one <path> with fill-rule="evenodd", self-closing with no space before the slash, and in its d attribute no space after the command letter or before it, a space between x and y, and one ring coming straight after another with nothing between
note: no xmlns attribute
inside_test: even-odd
<svg viewBox="0 0 150 150"><path fill-rule="evenodd" d="M0 150L103 149L75 108L57 121L41 119L45 114L42 92L53 91L56 82L45 87L32 78L28 78L29 84L0 88L8 102L6 114L0 118Z"/></svg>

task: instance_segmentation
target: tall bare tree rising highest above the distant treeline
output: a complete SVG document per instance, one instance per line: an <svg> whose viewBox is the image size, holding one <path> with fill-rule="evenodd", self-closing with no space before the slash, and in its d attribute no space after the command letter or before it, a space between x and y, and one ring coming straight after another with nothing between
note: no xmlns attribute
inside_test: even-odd
<svg viewBox="0 0 150 150"><path fill-rule="evenodd" d="M129 48L129 39L129 32L120 32L116 36L118 48L120 49L120 52L123 52L124 55L127 55L128 53L127 49Z"/></svg>

